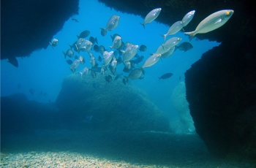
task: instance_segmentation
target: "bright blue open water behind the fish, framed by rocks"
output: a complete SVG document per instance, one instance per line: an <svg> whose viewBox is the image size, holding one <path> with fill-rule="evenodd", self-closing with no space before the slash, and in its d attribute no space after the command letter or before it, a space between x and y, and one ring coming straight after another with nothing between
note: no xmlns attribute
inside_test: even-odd
<svg viewBox="0 0 256 168"><path fill-rule="evenodd" d="M140 25L143 22L143 18L140 16L118 12L115 9L105 7L104 4L100 4L97 0L80 1L79 8L79 15L73 16L79 22L77 23L70 18L61 31L54 35L53 38L59 39L57 47L53 48L49 45L46 49L34 51L31 56L19 57L18 68L9 64L7 60L1 60L1 96L20 92L25 93L30 100L43 103L55 102L61 90L62 80L64 77L72 75L62 51L66 51L69 45L72 45L77 40L77 35L81 31L89 30L91 32L89 37L97 37L99 45L104 45L108 51L110 51L109 46L112 45L110 35L113 34L120 34L124 42L146 45L146 52L138 51L140 56L145 56L140 63L140 66L142 66L146 58L151 53L154 53L157 47L164 42L161 34L165 34L170 27L154 20L152 23L146 24L144 29ZM112 15L120 16L118 27L113 31L108 31L108 34L102 37L100 28L106 26ZM195 13L195 15L197 14ZM86 39L89 39L89 37L86 37ZM189 42L189 37L182 32L168 36L167 39L170 37L181 37L181 42ZM170 103L170 97L176 85L185 80L184 72L195 61L200 59L203 53L219 45L217 42L197 40L196 38L191 43L193 45L192 50L187 52L176 50L170 58L162 59L157 64L145 68L146 75L143 80L129 80L128 86L135 85L148 94L152 102L167 113L170 120L176 116L176 110L173 109L173 105ZM99 56L99 53L95 53L93 50L91 52L94 53L95 57ZM86 59L86 64L78 66L78 72L85 66L91 67L88 53L81 52L80 55L78 53L75 53L75 55L84 56ZM125 75L125 72L122 72L123 65L119 64L118 66L118 73ZM158 77L167 72L173 73L173 77L159 80ZM31 94L31 89L34 90L34 94Z"/></svg>

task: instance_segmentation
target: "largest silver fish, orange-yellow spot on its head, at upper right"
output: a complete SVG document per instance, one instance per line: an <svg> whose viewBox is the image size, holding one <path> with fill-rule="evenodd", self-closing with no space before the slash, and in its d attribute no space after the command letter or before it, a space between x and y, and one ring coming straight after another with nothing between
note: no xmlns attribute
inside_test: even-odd
<svg viewBox="0 0 256 168"><path fill-rule="evenodd" d="M198 24L197 28L195 28L195 31L185 32L184 34L189 34L189 39L191 40L193 37L195 37L195 34L205 34L209 31L214 31L215 29L227 23L227 20L231 18L233 13L234 11L231 9L219 10L218 12L214 12L213 14L202 20Z"/></svg>

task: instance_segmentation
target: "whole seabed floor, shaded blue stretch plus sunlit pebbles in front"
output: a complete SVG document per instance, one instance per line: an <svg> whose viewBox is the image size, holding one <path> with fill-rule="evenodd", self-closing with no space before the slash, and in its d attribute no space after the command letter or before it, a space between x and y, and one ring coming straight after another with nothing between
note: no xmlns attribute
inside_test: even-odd
<svg viewBox="0 0 256 168"><path fill-rule="evenodd" d="M211 156L197 134L37 131L1 136L0 167L255 167Z"/></svg>

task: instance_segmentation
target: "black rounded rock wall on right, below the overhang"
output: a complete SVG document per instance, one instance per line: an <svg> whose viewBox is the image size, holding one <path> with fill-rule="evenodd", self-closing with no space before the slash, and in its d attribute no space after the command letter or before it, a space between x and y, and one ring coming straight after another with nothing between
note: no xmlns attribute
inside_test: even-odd
<svg viewBox="0 0 256 168"><path fill-rule="evenodd" d="M252 42L244 45L244 40L240 44L222 42L203 54L185 74L187 100L197 133L217 155L256 156L253 46Z"/></svg>

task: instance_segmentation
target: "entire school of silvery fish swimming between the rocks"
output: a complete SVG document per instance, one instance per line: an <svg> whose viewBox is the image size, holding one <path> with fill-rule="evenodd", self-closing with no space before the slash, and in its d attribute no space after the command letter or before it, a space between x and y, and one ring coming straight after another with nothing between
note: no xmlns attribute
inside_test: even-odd
<svg viewBox="0 0 256 168"><path fill-rule="evenodd" d="M145 25L156 20L159 16L161 8L152 9L148 12L148 15L144 18L143 22L140 23L143 25L143 28L146 28ZM231 18L234 11L232 9L224 9L214 12L211 15L208 15L203 19L195 28L195 31L184 32L184 34L189 35L189 39L192 40L196 34L205 34L210 31L223 26L227 23L227 20ZM165 34L162 34L164 37L164 42L162 45L157 47L157 50L148 56L143 64L140 64L143 61L144 56L139 56L138 53L145 52L147 47L146 45L137 45L131 42L124 42L120 34L113 34L111 36L112 45L110 46L110 51L106 50L103 45L99 45L97 37L89 37L90 31L82 31L78 35L78 39L69 45L69 48L66 52L63 51L64 58L69 64L71 72L80 74L81 77L91 74L91 77L97 77L97 74L104 75L106 83L110 83L112 79L118 80L121 79L122 83L126 85L129 80L143 79L145 76L144 69L154 64L161 58L168 58L173 55L175 50L181 50L186 52L193 48L190 42L181 42L181 37L171 37L167 39L168 36L173 36L181 30L184 30L184 27L192 21L192 18L195 15L195 10L188 12L184 15L182 20L178 20L167 30ZM105 37L108 31L113 31L119 24L120 16L112 15L108 20L105 28L100 28L100 34L102 37ZM89 39L86 39L89 37ZM51 47L56 47L59 44L58 39L52 39L49 42ZM99 53L100 56L95 57L94 53ZM80 54L81 52L86 52L89 54L88 60L91 63L91 67L84 67L82 71L76 72L76 69L81 64L84 64L86 59L83 56L75 56L75 53ZM73 60L72 60L73 59ZM124 66L123 72L117 72L117 66ZM110 73L106 73L110 72ZM168 72L159 79L167 79L172 77L173 74Z"/></svg>

